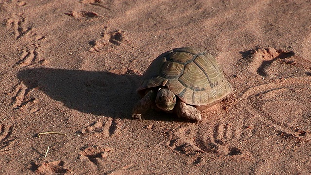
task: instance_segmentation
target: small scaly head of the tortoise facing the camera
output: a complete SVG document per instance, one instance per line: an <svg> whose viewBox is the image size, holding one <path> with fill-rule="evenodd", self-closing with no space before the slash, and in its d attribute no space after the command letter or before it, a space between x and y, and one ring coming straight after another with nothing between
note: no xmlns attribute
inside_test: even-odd
<svg viewBox="0 0 311 175"><path fill-rule="evenodd" d="M173 110L176 105L176 96L167 88L159 88L155 98L155 104L164 111Z"/></svg>

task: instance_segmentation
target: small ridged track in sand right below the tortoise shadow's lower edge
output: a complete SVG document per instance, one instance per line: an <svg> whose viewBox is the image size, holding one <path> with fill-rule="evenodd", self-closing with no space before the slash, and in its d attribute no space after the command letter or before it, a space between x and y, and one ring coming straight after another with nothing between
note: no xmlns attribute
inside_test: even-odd
<svg viewBox="0 0 311 175"><path fill-rule="evenodd" d="M91 133L111 137L115 134L118 134L119 131L120 131L120 120L106 118L103 122L102 121L93 122L90 126L86 127L85 129L82 129L80 132L82 134Z"/></svg>

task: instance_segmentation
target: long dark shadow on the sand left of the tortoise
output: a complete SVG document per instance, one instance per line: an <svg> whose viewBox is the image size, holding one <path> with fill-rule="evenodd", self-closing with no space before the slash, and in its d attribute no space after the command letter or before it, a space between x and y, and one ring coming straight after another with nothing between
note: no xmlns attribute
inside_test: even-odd
<svg viewBox="0 0 311 175"><path fill-rule="evenodd" d="M28 87L84 113L125 118L138 101L139 76L111 72L32 68L17 77Z"/></svg>

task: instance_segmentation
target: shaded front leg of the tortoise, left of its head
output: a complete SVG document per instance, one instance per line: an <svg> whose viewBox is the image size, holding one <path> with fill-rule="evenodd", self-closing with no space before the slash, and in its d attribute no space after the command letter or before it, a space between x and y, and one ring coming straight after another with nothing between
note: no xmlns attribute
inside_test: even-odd
<svg viewBox="0 0 311 175"><path fill-rule="evenodd" d="M142 120L142 114L146 113L147 110L151 108L153 103L155 103L156 94L153 90L150 90L146 93L146 95L140 99L133 107L132 117Z"/></svg>

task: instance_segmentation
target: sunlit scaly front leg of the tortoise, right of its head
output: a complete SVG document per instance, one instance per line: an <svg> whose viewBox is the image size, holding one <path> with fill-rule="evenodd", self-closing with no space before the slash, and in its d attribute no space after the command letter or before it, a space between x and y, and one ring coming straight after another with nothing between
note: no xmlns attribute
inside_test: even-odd
<svg viewBox="0 0 311 175"><path fill-rule="evenodd" d="M201 113L193 106L186 104L185 102L178 100L176 103L176 112L178 117L195 120L196 123L201 121Z"/></svg>

